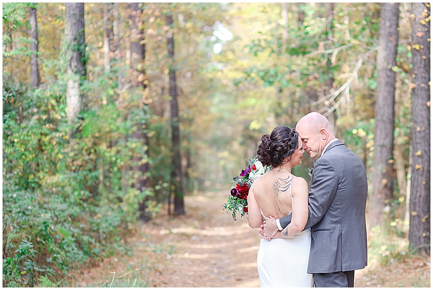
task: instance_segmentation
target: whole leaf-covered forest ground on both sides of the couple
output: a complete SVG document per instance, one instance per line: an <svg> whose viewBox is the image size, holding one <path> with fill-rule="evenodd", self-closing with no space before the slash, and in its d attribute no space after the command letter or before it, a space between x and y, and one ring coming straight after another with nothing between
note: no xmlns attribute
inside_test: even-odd
<svg viewBox="0 0 433 290"><path fill-rule="evenodd" d="M71 287L259 287L258 230L223 210L227 192L185 198L186 215L161 209L128 238L130 255L73 271ZM370 261L370 257L369 257ZM114 273L115 272L115 273ZM113 279L114 276L114 279ZM430 256L411 255L355 272L356 287L430 287Z"/></svg>

